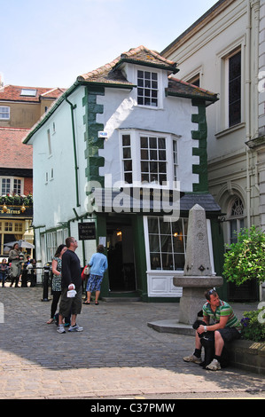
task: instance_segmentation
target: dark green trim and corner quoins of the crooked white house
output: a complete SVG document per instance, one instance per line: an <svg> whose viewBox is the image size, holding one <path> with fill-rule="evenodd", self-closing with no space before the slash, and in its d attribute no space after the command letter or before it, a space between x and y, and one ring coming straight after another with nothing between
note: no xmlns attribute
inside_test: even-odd
<svg viewBox="0 0 265 417"><path fill-rule="evenodd" d="M68 101L69 96L74 92L76 88L80 85L85 86L85 96L83 97L83 106L85 106L85 115L83 123L86 126L84 141L86 142L85 150L85 159L87 160L87 168L85 175L88 181L97 181L104 187L104 177L99 176L99 168L104 166L104 158L98 155L98 149L102 149L104 146L104 141L98 140L97 132L104 130L104 126L100 123L97 123L97 114L102 114L104 112L103 105L97 104L97 95L105 95L105 87L107 88L125 88L131 90L132 85L124 84L111 85L108 83L95 83L95 82L75 82L72 87L70 87L55 104L51 107L50 111L44 116L44 118L38 123L34 130L32 130L24 143L27 143L29 139L39 130L43 124L51 117L58 106L62 104L64 100ZM169 95L168 92L166 95ZM207 193L207 120L206 120L206 100L203 98L187 97L186 95L181 94L170 94L174 96L191 98L192 106L197 106L199 113L191 114L191 121L197 122L199 125L198 130L191 131L191 137L193 139L199 140L199 147L192 147L192 154L199 156L199 165L193 165L192 172L199 175L199 183L193 184L193 194L196 193ZM213 100L214 101L214 100ZM68 104L71 103L68 101ZM73 111L73 107L72 107ZM72 119L72 122L73 119ZM73 135L74 135L74 126L73 126ZM73 138L74 140L74 138ZM78 169L76 167L76 169ZM90 194L90 193L88 193ZM76 177L76 207L80 207L80 201L78 198L78 183ZM68 231L70 232L70 224L75 221L83 221L88 218L90 215L88 213L83 214L82 216L77 216L76 210L74 210L74 217L69 219L67 223ZM99 236L106 236L106 222L107 222L106 213L94 213L93 217L96 222L96 239L98 241ZM131 222L134 232L134 247L135 247L135 256L136 256L136 291L134 293L115 293L114 296L122 297L132 297L137 296L144 302L178 302L178 297L166 298L166 297L149 297L148 288L147 288L147 279L146 279L146 257L145 257L145 243L144 243L144 221L142 215L125 215L121 216L131 216ZM189 212L182 212L182 217L188 217ZM220 214L218 214L220 216ZM218 216L216 213L207 213L207 218L211 220L212 227L212 238L213 238L213 251L214 251L214 267L218 275L222 274L222 255L223 255L223 240L222 240L222 230L218 222ZM58 230L55 228L53 230ZM46 231L51 232L51 230ZM43 232L42 232L43 234ZM83 259L86 259L86 254L84 251L84 245L82 245ZM223 286L221 291L221 296L224 297L223 293L226 293L226 286ZM113 292L110 294L109 291L109 279L108 271L105 272L105 279L101 287L101 296L102 297L113 297Z"/></svg>

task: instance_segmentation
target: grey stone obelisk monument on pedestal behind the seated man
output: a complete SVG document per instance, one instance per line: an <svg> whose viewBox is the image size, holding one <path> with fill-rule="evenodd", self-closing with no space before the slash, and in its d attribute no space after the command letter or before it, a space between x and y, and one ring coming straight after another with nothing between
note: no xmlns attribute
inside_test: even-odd
<svg viewBox="0 0 265 417"><path fill-rule="evenodd" d="M183 287L179 323L192 325L206 303L207 288L222 287L222 277L212 271L205 209L195 204L189 214L186 261L182 277L175 276L175 287Z"/></svg>

